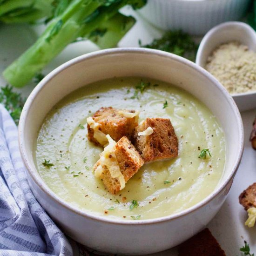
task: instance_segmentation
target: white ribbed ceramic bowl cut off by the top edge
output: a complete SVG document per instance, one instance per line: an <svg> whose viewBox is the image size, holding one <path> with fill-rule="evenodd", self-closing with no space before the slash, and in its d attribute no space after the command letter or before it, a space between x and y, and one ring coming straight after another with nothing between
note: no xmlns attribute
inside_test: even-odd
<svg viewBox="0 0 256 256"><path fill-rule="evenodd" d="M156 27L202 35L224 21L241 19L249 3L250 0L148 0L139 13Z"/></svg>

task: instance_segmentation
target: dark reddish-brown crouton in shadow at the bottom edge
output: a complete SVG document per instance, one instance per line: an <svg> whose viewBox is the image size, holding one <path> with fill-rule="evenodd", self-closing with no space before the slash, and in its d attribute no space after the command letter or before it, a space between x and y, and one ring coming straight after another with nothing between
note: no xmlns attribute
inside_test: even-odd
<svg viewBox="0 0 256 256"><path fill-rule="evenodd" d="M179 256L226 256L209 229L204 229L179 248Z"/></svg>

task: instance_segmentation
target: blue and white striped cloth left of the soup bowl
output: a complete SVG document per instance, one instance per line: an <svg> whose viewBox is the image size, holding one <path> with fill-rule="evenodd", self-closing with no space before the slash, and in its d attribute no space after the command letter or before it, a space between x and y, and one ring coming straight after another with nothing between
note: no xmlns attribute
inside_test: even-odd
<svg viewBox="0 0 256 256"><path fill-rule="evenodd" d="M17 127L0 105L0 255L72 256L66 237L36 201L20 157Z"/></svg>

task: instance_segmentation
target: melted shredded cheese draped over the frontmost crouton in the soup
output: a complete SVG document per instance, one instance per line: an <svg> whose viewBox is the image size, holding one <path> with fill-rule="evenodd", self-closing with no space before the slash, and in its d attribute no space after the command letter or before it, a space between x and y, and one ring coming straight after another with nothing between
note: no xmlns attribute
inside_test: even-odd
<svg viewBox="0 0 256 256"><path fill-rule="evenodd" d="M108 146L104 148L103 152L100 154L100 165L96 168L94 175L100 177L103 172L103 165L108 168L108 171L112 178L117 178L120 182L121 189L125 187L124 176L121 174L120 167L115 156L115 144L116 142L110 137L106 136L108 139Z"/></svg>

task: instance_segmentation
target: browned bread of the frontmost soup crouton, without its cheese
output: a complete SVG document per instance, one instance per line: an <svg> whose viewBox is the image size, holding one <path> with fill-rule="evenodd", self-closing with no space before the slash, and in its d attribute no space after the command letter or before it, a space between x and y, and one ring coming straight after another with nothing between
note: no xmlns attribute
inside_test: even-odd
<svg viewBox="0 0 256 256"><path fill-rule="evenodd" d="M135 175L135 173L137 173L144 164L139 152L125 136L115 144L115 156L120 167L121 174L124 176L125 182L128 182L128 180ZM94 165L94 170L99 165L100 161L96 162ZM121 184L119 180L111 177L110 172L105 165L103 165L101 180L111 194L116 194L120 191Z"/></svg>

